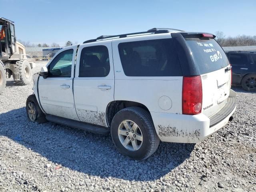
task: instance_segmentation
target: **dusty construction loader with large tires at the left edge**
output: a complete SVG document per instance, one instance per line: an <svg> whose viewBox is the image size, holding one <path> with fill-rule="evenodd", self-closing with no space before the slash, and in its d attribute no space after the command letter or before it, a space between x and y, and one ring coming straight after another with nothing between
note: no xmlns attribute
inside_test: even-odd
<svg viewBox="0 0 256 192"><path fill-rule="evenodd" d="M28 59L25 47L16 41L14 22L0 18L0 93L11 76L20 85L31 82L34 66L34 59Z"/></svg>

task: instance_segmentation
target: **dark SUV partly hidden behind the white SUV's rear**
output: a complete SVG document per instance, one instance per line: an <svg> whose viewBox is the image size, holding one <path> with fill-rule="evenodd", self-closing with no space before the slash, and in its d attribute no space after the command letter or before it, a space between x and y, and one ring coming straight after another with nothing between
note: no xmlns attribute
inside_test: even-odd
<svg viewBox="0 0 256 192"><path fill-rule="evenodd" d="M256 91L256 52L226 52L232 65L232 85L246 91Z"/></svg>

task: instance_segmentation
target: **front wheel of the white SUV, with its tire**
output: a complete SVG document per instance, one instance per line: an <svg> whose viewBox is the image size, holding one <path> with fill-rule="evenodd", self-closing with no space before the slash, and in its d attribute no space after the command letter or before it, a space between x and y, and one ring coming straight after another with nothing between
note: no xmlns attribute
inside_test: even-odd
<svg viewBox="0 0 256 192"><path fill-rule="evenodd" d="M31 118L31 107L33 108L34 111L34 117ZM27 101L26 101L26 112L27 112L27 117L28 120L31 122L38 122L40 123L45 123L47 122L45 118L45 114L42 112L37 100L35 94L32 94L28 96ZM33 113L33 112L32 112Z"/></svg>

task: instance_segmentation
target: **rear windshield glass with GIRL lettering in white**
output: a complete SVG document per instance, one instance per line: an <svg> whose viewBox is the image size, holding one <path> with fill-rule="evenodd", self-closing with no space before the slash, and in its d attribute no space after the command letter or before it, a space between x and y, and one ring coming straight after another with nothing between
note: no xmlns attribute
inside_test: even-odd
<svg viewBox="0 0 256 192"><path fill-rule="evenodd" d="M213 72L229 65L225 52L214 39L185 39L200 74Z"/></svg>

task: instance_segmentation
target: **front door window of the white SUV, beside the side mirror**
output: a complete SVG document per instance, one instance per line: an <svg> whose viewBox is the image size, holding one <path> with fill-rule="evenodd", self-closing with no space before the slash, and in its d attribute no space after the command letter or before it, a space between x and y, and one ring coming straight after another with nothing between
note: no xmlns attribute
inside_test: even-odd
<svg viewBox="0 0 256 192"><path fill-rule="evenodd" d="M48 66L48 77L71 77L73 49L59 53Z"/></svg>

